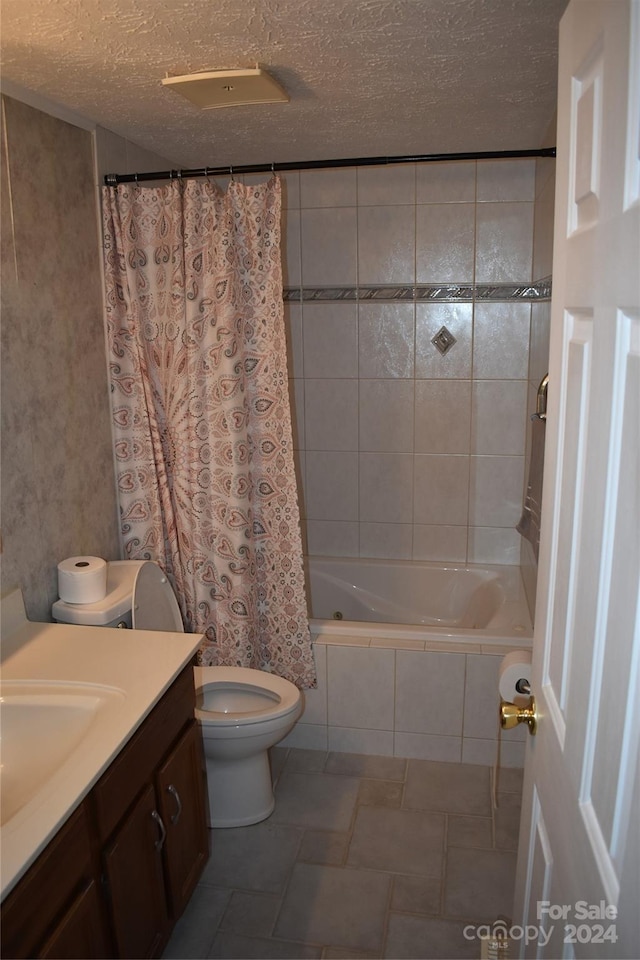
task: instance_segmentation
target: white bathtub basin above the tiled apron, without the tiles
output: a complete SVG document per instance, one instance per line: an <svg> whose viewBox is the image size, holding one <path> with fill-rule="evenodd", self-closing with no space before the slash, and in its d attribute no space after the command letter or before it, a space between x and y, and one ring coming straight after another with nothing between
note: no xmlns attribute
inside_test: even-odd
<svg viewBox="0 0 640 960"><path fill-rule="evenodd" d="M309 557L312 633L518 643L531 620L520 568Z"/></svg>

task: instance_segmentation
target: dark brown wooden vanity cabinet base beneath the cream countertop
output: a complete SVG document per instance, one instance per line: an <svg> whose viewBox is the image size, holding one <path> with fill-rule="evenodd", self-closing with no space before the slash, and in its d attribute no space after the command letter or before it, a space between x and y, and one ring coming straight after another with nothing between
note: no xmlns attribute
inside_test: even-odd
<svg viewBox="0 0 640 960"><path fill-rule="evenodd" d="M194 706L189 666L7 897L4 957L160 956L209 855Z"/></svg>

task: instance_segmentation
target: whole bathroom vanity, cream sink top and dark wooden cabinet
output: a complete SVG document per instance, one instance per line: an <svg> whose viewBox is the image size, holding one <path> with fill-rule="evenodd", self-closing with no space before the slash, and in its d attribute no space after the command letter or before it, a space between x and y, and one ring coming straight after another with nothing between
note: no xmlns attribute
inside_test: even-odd
<svg viewBox="0 0 640 960"><path fill-rule="evenodd" d="M38 764L44 780L21 776L29 793L3 784L2 955L160 956L209 855L194 719L200 638L28 621L20 630L2 677L9 738L27 738L15 763L39 750L20 710L32 727L42 722L54 759L65 737L72 746L50 775L46 757Z"/></svg>

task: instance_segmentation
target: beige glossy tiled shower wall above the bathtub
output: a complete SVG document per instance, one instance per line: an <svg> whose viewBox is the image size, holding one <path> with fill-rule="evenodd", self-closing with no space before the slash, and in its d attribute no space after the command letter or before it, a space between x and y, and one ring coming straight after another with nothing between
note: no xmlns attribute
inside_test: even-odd
<svg viewBox="0 0 640 960"><path fill-rule="evenodd" d="M286 176L310 554L520 562L531 297L500 299L500 285L542 279L535 171L516 160ZM392 299L416 284L446 299ZM363 299L385 285L389 299ZM456 338L444 356L431 342L443 325Z"/></svg>

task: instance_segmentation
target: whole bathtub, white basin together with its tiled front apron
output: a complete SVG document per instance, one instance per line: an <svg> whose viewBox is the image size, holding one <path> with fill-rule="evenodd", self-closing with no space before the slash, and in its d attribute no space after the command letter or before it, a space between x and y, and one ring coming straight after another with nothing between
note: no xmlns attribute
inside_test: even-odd
<svg viewBox="0 0 640 960"><path fill-rule="evenodd" d="M318 687L282 746L524 763L522 726L499 733L498 673L530 649L516 566L310 557Z"/></svg>

